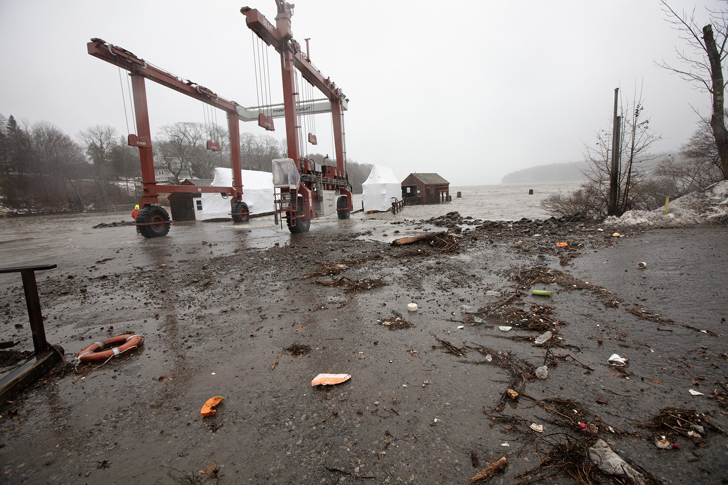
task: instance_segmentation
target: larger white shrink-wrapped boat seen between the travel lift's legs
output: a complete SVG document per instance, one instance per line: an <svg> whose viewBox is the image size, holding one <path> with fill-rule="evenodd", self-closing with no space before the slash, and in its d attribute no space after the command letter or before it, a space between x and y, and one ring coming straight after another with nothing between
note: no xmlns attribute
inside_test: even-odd
<svg viewBox="0 0 728 485"><path fill-rule="evenodd" d="M275 210L273 204L273 178L270 172L241 170L242 201L248 204L250 214L264 214ZM215 169L210 185L232 187L232 169ZM231 220L230 197L223 199L219 193L202 194L202 220Z"/></svg>

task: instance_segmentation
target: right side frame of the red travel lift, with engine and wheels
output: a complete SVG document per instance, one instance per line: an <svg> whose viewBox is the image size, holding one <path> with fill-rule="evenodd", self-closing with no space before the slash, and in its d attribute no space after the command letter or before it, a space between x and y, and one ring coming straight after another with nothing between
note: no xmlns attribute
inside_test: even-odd
<svg viewBox="0 0 728 485"><path fill-rule="evenodd" d="M301 45L293 39L290 30L290 17L293 16L293 4L284 0L275 0L278 14L276 26L269 22L261 12L250 7L242 7L248 28L272 46L281 56L281 72L283 81L283 106L285 110L285 135L288 145L288 158L295 164L301 175L301 183L297 188L276 188L276 212L285 213L288 228L292 233L309 230L312 219L317 217L314 201L323 200L324 191L339 192L336 212L339 219L348 219L352 211L352 193L349 185L344 159L344 124L341 117L341 105L346 97L331 78L325 78L321 71L312 65L308 55L301 52ZM328 97L331 103L333 121L333 143L336 152L336 167L322 167L305 159L298 150L298 124L296 112L296 79L294 69Z"/></svg>

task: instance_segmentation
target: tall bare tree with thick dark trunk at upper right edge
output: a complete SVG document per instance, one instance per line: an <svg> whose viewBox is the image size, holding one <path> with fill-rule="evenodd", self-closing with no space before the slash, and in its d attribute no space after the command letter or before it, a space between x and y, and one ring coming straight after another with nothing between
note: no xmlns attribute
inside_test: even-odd
<svg viewBox="0 0 728 485"><path fill-rule="evenodd" d="M721 160L723 178L728 179L728 131L724 111L726 88L724 60L728 55L728 12L708 9L708 24L700 28L695 20L695 9L689 15L686 12L678 14L664 0L660 3L668 21L689 46L690 52L676 48L678 63L683 66L682 68L673 67L665 60L656 64L696 84L698 89L710 93L712 100L710 125L713 142Z"/></svg>

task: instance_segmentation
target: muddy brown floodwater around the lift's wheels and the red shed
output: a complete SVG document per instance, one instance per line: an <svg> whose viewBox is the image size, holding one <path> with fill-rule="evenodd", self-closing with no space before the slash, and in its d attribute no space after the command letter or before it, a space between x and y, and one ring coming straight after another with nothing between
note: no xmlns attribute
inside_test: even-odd
<svg viewBox="0 0 728 485"><path fill-rule="evenodd" d="M521 217L550 217L540 203L556 191L574 191L578 183L560 184L507 184L451 186L452 201L448 204L405 207L402 212L364 215L357 212L348 221L336 217L314 220L311 233L339 231L341 224L352 223L370 231L381 221L423 220L446 212L457 211L463 216L488 220L518 220ZM533 189L534 194L529 195ZM456 194L462 193L461 198ZM361 207L361 194L355 194L354 207ZM93 229L100 223L130 220L124 212L94 212L91 214L49 215L37 217L0 218L0 261L4 265L23 265L67 262L85 263L95 258L102 260L109 254L123 254L141 249L149 252L165 244L155 239L143 239L132 226ZM357 227L357 230L359 228ZM212 254L223 254L229 249L270 247L287 244L290 233L275 225L274 218L258 217L245 224L231 222L175 223L170 231L175 244L189 244L197 248L201 241L210 246Z"/></svg>

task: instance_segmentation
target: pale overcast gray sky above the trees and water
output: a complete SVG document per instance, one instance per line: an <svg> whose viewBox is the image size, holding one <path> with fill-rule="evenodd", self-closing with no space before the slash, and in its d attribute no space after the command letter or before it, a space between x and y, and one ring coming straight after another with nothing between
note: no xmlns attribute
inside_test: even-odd
<svg viewBox="0 0 728 485"><path fill-rule="evenodd" d="M269 20L272 0L250 0ZM657 0L296 0L293 36L349 98L349 159L438 172L456 185L499 183L532 165L582 159L584 143L609 127L614 88L642 85L646 112L672 151L695 131L710 99L657 68L676 63L678 33ZM705 6L670 1L703 25ZM46 120L71 135L94 124L127 134L119 71L87 54L99 37L245 106L256 105L253 42L229 0L0 1L0 113ZM280 63L270 49L274 100ZM127 95L124 91L124 95ZM202 103L147 82L152 133L204 121ZM692 106L692 107L691 107ZM331 116L316 119L329 153ZM225 116L218 112L218 122ZM130 121L131 123L131 121ZM265 133L256 124L241 130ZM133 131L133 129L132 129ZM274 137L285 137L277 120Z"/></svg>

